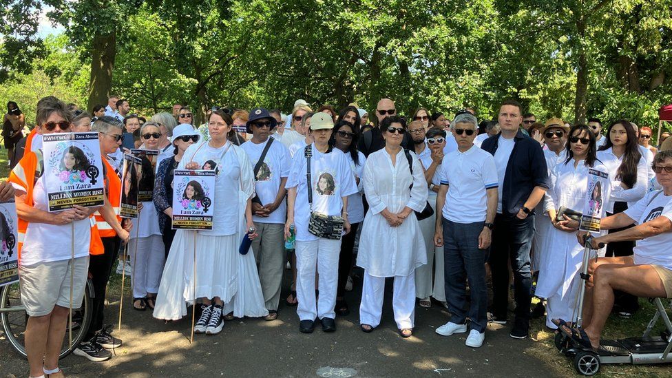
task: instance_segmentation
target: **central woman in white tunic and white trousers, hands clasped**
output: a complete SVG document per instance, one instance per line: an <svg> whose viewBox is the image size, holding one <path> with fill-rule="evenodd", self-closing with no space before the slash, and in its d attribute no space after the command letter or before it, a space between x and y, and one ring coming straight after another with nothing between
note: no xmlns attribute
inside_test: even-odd
<svg viewBox="0 0 672 378"><path fill-rule="evenodd" d="M410 337L415 317L414 272L427 264L425 242L413 211L422 211L427 204L427 182L417 156L401 148L406 121L387 117L380 127L385 148L370 154L364 165L369 209L361 230L366 238L359 241L357 256L357 266L364 268L359 323L366 333L380 324L385 278L395 277L395 321L399 335Z"/></svg>

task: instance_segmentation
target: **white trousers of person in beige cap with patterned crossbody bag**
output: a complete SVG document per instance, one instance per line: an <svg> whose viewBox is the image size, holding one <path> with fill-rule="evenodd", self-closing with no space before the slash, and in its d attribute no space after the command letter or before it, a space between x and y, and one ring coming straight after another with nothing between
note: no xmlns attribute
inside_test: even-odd
<svg viewBox="0 0 672 378"><path fill-rule="evenodd" d="M300 320L329 317L335 319L338 286L338 255L341 240L319 238L312 242L296 241L296 313ZM319 273L319 298L315 304L315 266Z"/></svg>

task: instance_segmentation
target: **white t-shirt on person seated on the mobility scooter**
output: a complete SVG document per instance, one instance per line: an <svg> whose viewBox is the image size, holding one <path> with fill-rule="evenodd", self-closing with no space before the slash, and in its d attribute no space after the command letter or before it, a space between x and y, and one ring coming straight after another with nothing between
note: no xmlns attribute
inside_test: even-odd
<svg viewBox="0 0 672 378"><path fill-rule="evenodd" d="M656 193L660 194L655 196ZM637 224L649 222L660 216L672 220L672 196L665 196L660 191L649 192L624 213ZM672 270L671 245L672 233L669 232L638 240L637 246L633 249L634 262L635 264L658 264Z"/></svg>

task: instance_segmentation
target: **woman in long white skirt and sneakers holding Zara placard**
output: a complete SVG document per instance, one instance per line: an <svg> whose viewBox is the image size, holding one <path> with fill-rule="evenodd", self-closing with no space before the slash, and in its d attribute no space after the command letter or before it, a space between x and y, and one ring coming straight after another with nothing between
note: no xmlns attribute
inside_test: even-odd
<svg viewBox="0 0 672 378"><path fill-rule="evenodd" d="M254 181L247 155L227 140L231 123L228 114L213 111L208 118L211 139L189 146L178 165L178 169L216 171L213 227L176 232L154 310L158 319L176 320L187 315L186 302L200 299L203 312L194 332L209 335L224 327L222 313L233 311L236 317L268 315L254 255L238 253L242 238L253 227Z"/></svg>

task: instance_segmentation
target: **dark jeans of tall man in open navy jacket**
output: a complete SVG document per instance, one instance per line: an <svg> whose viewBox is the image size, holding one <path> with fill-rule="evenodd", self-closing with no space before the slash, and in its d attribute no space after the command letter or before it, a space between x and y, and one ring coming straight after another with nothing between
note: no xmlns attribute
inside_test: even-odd
<svg viewBox="0 0 672 378"><path fill-rule="evenodd" d="M529 249L534 235L534 216L521 220L497 214L492 230L490 271L492 271L492 315L506 319L509 293L509 261L514 273L516 319L529 320L532 302L532 273Z"/></svg>

